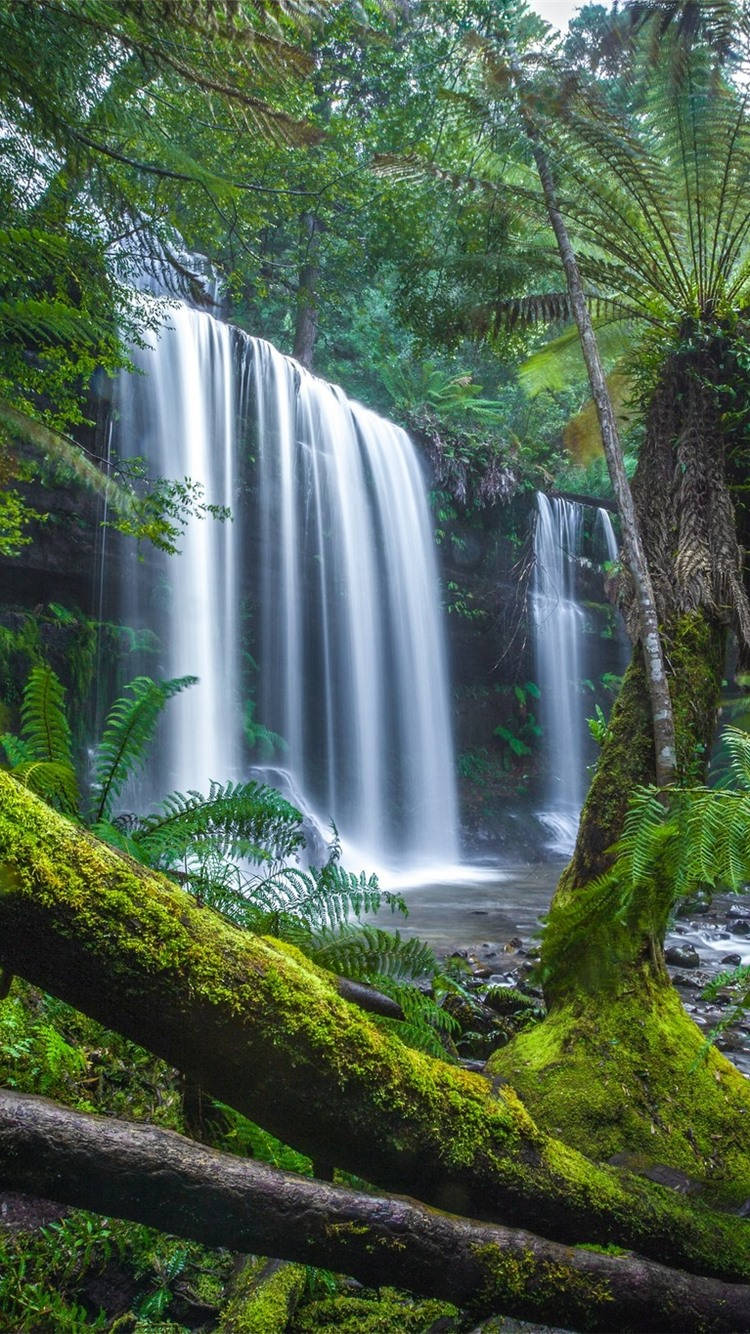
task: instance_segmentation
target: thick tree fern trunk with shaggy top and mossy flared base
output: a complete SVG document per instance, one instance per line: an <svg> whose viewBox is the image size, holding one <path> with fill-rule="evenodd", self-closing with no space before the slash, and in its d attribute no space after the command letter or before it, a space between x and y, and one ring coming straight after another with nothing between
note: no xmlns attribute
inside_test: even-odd
<svg viewBox="0 0 750 1334"><path fill-rule="evenodd" d="M710 383L710 367L685 356L665 367L633 483L683 782L701 782L710 754L730 616L741 635L747 619ZM581 1149L602 1158L627 1149L711 1178L714 1147L731 1137L734 1117L665 968L674 884L657 867L634 895L602 878L630 792L654 780L647 674L637 648L543 935L550 1017L496 1053L491 1067L514 1082L542 1125ZM739 1142L750 1142L750 1127Z"/></svg>

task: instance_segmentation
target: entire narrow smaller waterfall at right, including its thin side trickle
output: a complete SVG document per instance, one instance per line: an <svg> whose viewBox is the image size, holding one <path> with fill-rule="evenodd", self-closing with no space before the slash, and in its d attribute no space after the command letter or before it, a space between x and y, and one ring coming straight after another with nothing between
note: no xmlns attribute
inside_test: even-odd
<svg viewBox="0 0 750 1334"><path fill-rule="evenodd" d="M603 508L597 510L593 536L598 560L615 562L618 542ZM550 832L550 850L563 855L575 843L589 782L587 762L593 758L586 724L591 696L587 704L583 686L595 683L602 666L621 672L627 660L622 627L607 654L601 639L587 632L591 627L582 604L582 558L585 506L538 492L531 619L546 764L539 818ZM606 656L610 662L605 662Z"/></svg>

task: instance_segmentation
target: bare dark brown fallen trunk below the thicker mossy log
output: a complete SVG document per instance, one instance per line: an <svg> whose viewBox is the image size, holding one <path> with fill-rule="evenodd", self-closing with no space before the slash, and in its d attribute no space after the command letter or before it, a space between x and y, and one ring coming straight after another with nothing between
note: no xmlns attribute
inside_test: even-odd
<svg viewBox="0 0 750 1334"><path fill-rule="evenodd" d="M503 1311L621 1334L750 1330L750 1286L364 1195L216 1153L172 1130L9 1090L0 1090L0 1173L13 1190L44 1190L208 1246L395 1283L478 1317ZM251 1273L246 1286L251 1294Z"/></svg>

